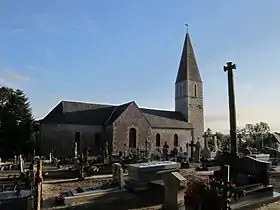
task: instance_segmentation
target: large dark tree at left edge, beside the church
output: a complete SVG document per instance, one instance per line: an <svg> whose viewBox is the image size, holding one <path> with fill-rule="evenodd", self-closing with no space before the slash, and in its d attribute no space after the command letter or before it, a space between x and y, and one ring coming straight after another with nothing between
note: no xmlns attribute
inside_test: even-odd
<svg viewBox="0 0 280 210"><path fill-rule="evenodd" d="M24 92L0 87L0 155L30 153L34 146L33 126L34 118Z"/></svg>

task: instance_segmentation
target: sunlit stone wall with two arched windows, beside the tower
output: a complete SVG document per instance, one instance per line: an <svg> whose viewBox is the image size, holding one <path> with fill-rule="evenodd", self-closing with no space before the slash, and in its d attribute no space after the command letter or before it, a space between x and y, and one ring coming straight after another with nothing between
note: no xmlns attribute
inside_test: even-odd
<svg viewBox="0 0 280 210"><path fill-rule="evenodd" d="M157 145L157 134L159 134L160 145ZM175 135L178 137L178 146L183 148L183 151L186 151L186 143L190 143L191 140L191 130L183 130L183 129L152 129L151 136L149 138L149 142L151 143L151 150L154 153L157 149L162 151L163 145L167 142L169 146L169 151L175 147L174 140Z"/></svg>

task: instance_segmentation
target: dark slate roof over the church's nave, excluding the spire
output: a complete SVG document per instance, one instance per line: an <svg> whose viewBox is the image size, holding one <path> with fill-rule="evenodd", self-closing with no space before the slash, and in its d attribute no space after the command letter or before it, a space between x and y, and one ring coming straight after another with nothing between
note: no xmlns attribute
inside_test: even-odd
<svg viewBox="0 0 280 210"><path fill-rule="evenodd" d="M61 101L41 123L112 125L123 111L134 102L121 105L92 104ZM140 108L154 128L192 129L181 112Z"/></svg>

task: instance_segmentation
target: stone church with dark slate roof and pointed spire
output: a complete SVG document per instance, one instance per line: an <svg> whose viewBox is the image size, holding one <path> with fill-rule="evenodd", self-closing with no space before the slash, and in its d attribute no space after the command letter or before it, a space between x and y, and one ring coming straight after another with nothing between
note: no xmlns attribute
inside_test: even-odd
<svg viewBox="0 0 280 210"><path fill-rule="evenodd" d="M175 111L146 109L132 101L120 105L61 101L41 122L40 153L72 156L75 142L92 155L106 144L112 155L135 150L169 150L194 139L203 147L203 83L189 33L175 82ZM106 143L105 143L106 142Z"/></svg>

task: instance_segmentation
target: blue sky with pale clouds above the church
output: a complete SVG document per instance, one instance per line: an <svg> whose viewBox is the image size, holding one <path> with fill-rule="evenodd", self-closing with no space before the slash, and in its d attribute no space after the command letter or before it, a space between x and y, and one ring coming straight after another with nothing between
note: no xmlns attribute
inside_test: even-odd
<svg viewBox="0 0 280 210"><path fill-rule="evenodd" d="M205 128L228 130L235 71L238 124L280 130L279 0L0 0L0 84L23 89L41 118L60 100L174 109L189 24L204 81Z"/></svg>

